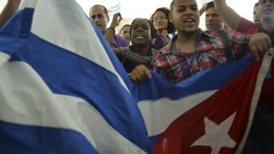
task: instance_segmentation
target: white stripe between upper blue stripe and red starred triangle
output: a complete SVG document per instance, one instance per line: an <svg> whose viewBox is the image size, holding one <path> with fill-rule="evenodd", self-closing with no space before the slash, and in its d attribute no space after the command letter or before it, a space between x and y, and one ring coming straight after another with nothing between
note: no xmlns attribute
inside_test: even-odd
<svg viewBox="0 0 274 154"><path fill-rule="evenodd" d="M200 92L178 100L162 98L157 101L140 101L138 107L145 120L149 136L156 136L164 132L173 120L201 103L201 101L208 99L216 91Z"/></svg>

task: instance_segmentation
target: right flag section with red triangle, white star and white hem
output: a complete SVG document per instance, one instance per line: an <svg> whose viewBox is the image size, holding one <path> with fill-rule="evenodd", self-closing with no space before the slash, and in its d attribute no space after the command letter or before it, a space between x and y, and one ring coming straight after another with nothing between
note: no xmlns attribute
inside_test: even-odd
<svg viewBox="0 0 274 154"><path fill-rule="evenodd" d="M135 85L154 153L240 153L271 59L249 54L176 85L158 75Z"/></svg>

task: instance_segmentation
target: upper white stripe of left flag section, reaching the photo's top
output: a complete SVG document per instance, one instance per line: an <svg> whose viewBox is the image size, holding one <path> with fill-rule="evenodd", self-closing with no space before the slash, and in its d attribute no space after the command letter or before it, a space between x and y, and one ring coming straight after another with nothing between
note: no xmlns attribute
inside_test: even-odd
<svg viewBox="0 0 274 154"><path fill-rule="evenodd" d="M47 42L86 57L111 71L129 92L125 82L112 65L90 21L75 1L37 1L31 31Z"/></svg>

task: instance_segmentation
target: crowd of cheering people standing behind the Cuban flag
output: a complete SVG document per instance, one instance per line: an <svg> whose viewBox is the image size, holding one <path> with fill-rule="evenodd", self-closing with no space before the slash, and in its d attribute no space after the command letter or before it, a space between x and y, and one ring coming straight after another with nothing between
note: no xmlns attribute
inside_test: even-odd
<svg viewBox="0 0 274 154"><path fill-rule="evenodd" d="M17 10L19 0L9 0L0 15L0 27ZM199 17L206 13L206 27ZM123 20L114 14L110 23L103 5L90 8L90 20L101 30L134 82L159 73L173 84L203 70L238 60L250 51L256 60L268 51L274 39L274 1L260 0L248 21L225 0L206 3L199 10L195 0L173 0L169 8L155 10L150 19L135 18L131 25L115 28ZM264 79L262 94L249 138L242 153L268 154L274 151L274 68Z"/></svg>

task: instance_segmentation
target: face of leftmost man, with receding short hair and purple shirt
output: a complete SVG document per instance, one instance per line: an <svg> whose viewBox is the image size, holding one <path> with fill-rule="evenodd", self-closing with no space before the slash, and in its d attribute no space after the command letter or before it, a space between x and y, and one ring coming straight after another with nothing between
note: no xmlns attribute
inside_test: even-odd
<svg viewBox="0 0 274 154"><path fill-rule="evenodd" d="M108 25L108 21L110 21L110 18L105 15L103 7L101 6L95 6L91 8L90 18L102 32L105 31Z"/></svg>

